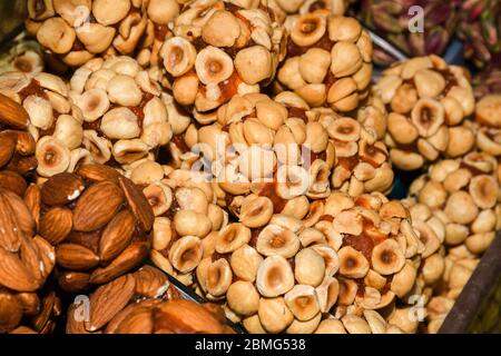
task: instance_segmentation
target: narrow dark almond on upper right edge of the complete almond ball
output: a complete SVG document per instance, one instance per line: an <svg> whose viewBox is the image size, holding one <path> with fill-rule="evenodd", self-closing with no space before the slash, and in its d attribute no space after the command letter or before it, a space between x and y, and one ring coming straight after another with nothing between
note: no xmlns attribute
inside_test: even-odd
<svg viewBox="0 0 501 356"><path fill-rule="evenodd" d="M139 220L141 228L145 231L151 230L155 215L143 191L128 178L120 177L118 181L124 190L127 204Z"/></svg>

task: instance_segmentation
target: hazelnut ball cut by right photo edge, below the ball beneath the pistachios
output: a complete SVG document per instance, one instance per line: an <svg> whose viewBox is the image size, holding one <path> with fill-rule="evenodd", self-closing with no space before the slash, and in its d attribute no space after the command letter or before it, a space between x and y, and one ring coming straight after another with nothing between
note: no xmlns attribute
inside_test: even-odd
<svg viewBox="0 0 501 356"><path fill-rule="evenodd" d="M444 225L445 246L480 255L500 226L498 161L483 152L442 160L411 185L410 195ZM436 221L439 224L439 221ZM431 234L428 234L431 236ZM436 244L436 243L435 243Z"/></svg>

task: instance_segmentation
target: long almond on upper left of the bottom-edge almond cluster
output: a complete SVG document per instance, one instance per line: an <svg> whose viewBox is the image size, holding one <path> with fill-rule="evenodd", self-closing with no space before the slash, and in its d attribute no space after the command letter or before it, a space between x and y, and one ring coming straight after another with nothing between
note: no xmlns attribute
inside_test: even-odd
<svg viewBox="0 0 501 356"><path fill-rule="evenodd" d="M136 280L126 275L99 287L90 296L90 320L86 329L95 332L105 326L132 298Z"/></svg>

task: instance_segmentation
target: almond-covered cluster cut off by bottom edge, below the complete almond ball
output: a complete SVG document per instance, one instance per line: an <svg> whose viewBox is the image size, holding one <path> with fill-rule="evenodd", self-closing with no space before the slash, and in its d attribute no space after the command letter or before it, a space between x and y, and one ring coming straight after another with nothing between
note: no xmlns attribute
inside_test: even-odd
<svg viewBox="0 0 501 356"><path fill-rule="evenodd" d="M67 334L229 334L223 309L180 298L159 269L145 266L90 295L68 310Z"/></svg>

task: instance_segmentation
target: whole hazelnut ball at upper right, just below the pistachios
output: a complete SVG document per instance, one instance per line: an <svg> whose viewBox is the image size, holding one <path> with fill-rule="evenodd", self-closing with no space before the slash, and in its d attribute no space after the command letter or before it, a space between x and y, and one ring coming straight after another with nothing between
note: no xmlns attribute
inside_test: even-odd
<svg viewBox="0 0 501 356"><path fill-rule="evenodd" d="M386 145L399 169L419 169L473 149L473 128L462 123L475 108L464 69L433 55L413 58L385 70L374 91L387 106Z"/></svg>

